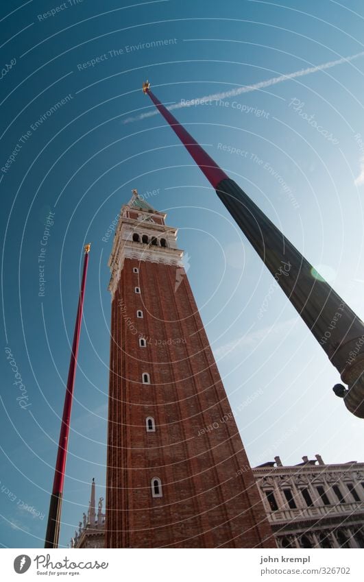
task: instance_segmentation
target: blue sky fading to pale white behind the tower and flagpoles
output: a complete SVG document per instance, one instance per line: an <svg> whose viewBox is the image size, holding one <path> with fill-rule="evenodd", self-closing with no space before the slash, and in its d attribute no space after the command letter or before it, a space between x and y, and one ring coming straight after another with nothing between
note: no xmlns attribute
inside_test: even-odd
<svg viewBox="0 0 364 582"><path fill-rule="evenodd" d="M204 175L160 115L124 123L152 109L146 78L161 101L177 104L360 53L363 3L15 0L0 11L0 543L43 546L89 241L62 545L87 511L93 477L105 496L106 233L132 188L159 189L149 204L180 229L252 465L277 454L284 464L315 453L326 463L363 461L363 422L332 393L337 371ZM175 110L362 318L363 71L364 56Z"/></svg>

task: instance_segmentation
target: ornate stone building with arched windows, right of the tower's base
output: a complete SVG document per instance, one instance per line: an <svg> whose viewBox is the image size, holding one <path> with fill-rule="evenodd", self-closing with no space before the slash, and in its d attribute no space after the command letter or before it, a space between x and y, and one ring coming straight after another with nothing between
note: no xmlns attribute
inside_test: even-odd
<svg viewBox="0 0 364 582"><path fill-rule="evenodd" d="M253 469L280 548L364 548L364 463L280 458Z"/></svg>

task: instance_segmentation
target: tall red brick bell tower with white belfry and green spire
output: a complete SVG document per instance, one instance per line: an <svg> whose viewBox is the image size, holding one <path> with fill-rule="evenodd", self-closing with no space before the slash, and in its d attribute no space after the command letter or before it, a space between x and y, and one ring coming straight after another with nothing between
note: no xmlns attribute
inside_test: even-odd
<svg viewBox="0 0 364 582"><path fill-rule="evenodd" d="M134 190L108 263L106 547L274 548L165 218Z"/></svg>

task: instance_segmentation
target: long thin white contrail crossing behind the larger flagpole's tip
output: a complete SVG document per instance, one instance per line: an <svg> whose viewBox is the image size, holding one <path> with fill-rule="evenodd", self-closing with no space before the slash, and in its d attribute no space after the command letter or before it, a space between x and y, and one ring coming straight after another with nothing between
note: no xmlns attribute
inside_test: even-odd
<svg viewBox="0 0 364 582"><path fill-rule="evenodd" d="M364 55L364 51L361 53L356 53L348 57L343 57L338 60L330 60L324 62L323 64L318 64L317 66L309 66L308 69L301 69L300 71L295 71L294 73L288 73L287 75L280 75L279 77L272 77L266 81L260 81L254 85L247 85L243 87L237 87L236 89L231 89L229 91L223 91L223 93L214 93L213 95L205 95L205 97L197 97L195 99L189 99L188 101L180 101L173 105L167 107L169 111L173 109L181 109L184 107L193 107L204 104L206 101L216 101L218 99L226 99L227 97L236 97L236 95L241 95L242 93L250 93L251 91L257 91L265 87L270 87L271 85L276 85L289 79L297 79L297 77L305 77L306 75L311 75L311 73L317 73L317 71L326 71L326 69L331 69L332 66L337 66L337 64L343 64L344 62L350 62L356 58ZM123 123L132 123L132 121L140 121L146 117L153 117L158 114L158 110L154 109L152 111L147 111L136 115L135 117L128 117L123 120Z"/></svg>

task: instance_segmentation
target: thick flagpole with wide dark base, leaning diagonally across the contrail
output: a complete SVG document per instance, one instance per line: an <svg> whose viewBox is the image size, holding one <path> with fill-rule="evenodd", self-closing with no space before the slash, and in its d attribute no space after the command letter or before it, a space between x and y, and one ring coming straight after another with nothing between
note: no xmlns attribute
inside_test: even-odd
<svg viewBox="0 0 364 582"><path fill-rule="evenodd" d="M361 319L158 101L149 82L143 84L143 91L206 175L221 202L339 371L343 383L348 385L348 388L335 385L335 394L343 398L352 414L364 418L364 324Z"/></svg>

